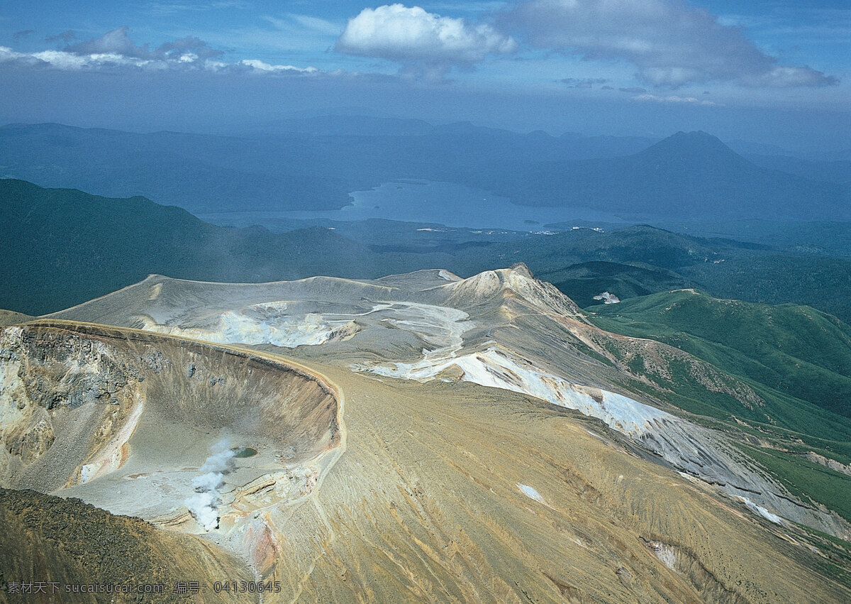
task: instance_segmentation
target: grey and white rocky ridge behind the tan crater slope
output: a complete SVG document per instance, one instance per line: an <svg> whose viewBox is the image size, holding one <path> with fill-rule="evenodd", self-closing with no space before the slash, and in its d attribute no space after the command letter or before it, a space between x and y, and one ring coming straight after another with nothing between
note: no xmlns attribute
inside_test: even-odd
<svg viewBox="0 0 851 604"><path fill-rule="evenodd" d="M420 383L460 380L531 394L602 419L678 470L773 514L851 537L845 521L797 501L722 434L648 396L664 395L664 386L648 382L648 371L635 373L629 360L639 355L663 376L683 363L695 388L741 406L761 403L750 387L676 348L597 329L523 265L470 279L446 271L260 285L151 277L53 316L292 350Z"/></svg>

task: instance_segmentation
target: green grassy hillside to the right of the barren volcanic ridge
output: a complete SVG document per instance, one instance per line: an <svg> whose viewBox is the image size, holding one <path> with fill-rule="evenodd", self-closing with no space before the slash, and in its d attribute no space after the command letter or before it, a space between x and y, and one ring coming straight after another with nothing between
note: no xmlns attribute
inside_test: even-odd
<svg viewBox="0 0 851 604"><path fill-rule="evenodd" d="M678 290L595 307L608 331L649 337L781 393L851 417L851 326L794 304Z"/></svg>

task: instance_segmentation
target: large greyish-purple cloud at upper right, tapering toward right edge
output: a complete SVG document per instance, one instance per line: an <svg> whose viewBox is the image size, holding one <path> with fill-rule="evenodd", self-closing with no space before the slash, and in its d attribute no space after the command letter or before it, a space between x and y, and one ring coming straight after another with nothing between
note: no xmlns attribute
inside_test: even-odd
<svg viewBox="0 0 851 604"><path fill-rule="evenodd" d="M778 66L740 28L679 0L526 0L503 14L500 24L539 48L630 61L637 77L654 86L837 83L810 67Z"/></svg>

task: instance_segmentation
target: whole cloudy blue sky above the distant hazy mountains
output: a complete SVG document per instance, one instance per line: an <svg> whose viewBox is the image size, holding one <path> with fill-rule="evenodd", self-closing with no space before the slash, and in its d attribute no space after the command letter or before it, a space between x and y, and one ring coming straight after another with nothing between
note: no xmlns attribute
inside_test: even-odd
<svg viewBox="0 0 851 604"><path fill-rule="evenodd" d="M7 0L0 121L224 131L345 110L841 148L849 56L848 2Z"/></svg>

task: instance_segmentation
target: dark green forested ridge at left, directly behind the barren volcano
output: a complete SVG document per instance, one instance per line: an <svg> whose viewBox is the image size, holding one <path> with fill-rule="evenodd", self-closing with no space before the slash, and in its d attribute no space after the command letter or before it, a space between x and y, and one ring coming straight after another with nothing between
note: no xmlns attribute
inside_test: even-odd
<svg viewBox="0 0 851 604"><path fill-rule="evenodd" d="M215 227L146 198L103 198L0 180L0 308L44 314L149 273L210 281L377 276L366 246L314 227ZM373 261L373 262L371 262Z"/></svg>

